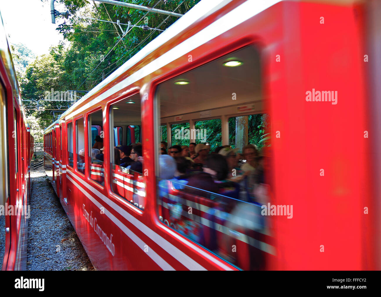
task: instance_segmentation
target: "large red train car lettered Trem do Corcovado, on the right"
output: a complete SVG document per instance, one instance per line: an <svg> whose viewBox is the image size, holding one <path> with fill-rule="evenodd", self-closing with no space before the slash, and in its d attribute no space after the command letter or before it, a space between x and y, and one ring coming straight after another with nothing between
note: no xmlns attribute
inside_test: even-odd
<svg viewBox="0 0 381 297"><path fill-rule="evenodd" d="M379 268L379 219L367 212L379 203L369 157L379 146L367 138L376 106L365 81L367 8L202 1L46 129L47 174L94 267ZM180 183L159 154L161 140L208 142L242 152L250 169L255 152L245 145L263 133L258 118L270 134L255 183L206 191L202 180ZM213 135L203 129L210 121ZM103 160L91 156L93 126L104 132ZM118 164L115 128L121 145L141 143L142 170Z"/></svg>

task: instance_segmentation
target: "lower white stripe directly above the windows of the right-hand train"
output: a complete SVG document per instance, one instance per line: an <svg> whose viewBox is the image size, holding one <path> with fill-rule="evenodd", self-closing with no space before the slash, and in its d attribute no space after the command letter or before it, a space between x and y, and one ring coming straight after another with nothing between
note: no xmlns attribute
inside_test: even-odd
<svg viewBox="0 0 381 297"><path fill-rule="evenodd" d="M94 98L93 100L86 103L82 107L74 109L71 113L65 116L65 119L69 120L70 118L74 117L76 114L82 113L83 111L87 110L91 106L101 102L102 100L124 89L125 87L131 86L131 84L135 83L136 81L139 81L140 79L146 77L147 75L153 73L154 71L157 71L158 69L164 67L165 65L184 56L185 54L189 53L193 49L196 49L199 46L202 46L208 41L218 37L219 35L227 32L228 30L234 28L235 26L245 22L247 19L250 19L250 17L255 16L256 14L260 13L261 11L264 11L265 9L269 8L270 6L278 2L280 1L268 0L264 2L258 2L255 0L248 0L242 3L238 7L234 8L234 10L220 17L218 20L208 25L207 27L197 32L196 34L192 35L187 40L184 40L182 43L178 44L174 48L171 48L165 54L153 60L146 66L140 68L138 71L134 72L132 75L123 79L123 81L121 81L120 83L116 84L115 86L111 87L107 91L103 92L98 97ZM194 20L192 22L194 22ZM136 61L136 62L138 63L139 61ZM113 76L112 80L116 79L118 75L121 75L129 67L131 67L131 65L128 62L122 65L119 68L120 71L115 73L116 75ZM98 90L99 87L96 87L96 89ZM78 105L80 104L81 101L82 100L77 102ZM73 105L72 108L75 108L77 103Z"/></svg>

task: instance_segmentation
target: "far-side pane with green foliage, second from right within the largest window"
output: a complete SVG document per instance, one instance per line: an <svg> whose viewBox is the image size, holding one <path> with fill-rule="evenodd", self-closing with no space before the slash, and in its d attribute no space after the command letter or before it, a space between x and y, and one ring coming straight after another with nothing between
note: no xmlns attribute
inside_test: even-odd
<svg viewBox="0 0 381 297"><path fill-rule="evenodd" d="M211 151L222 145L221 119L197 121L191 132L196 143L208 143Z"/></svg>

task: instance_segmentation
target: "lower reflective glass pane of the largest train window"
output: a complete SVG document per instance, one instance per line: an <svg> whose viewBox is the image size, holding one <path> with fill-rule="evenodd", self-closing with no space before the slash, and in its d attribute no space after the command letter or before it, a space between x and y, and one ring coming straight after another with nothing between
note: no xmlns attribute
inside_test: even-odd
<svg viewBox="0 0 381 297"><path fill-rule="evenodd" d="M265 252L257 247L266 236L268 224L261 215L261 205L229 197L239 191L233 183L220 184L224 195L186 183L176 178L158 179L159 219L242 269L263 269ZM210 190L213 187L211 184Z"/></svg>

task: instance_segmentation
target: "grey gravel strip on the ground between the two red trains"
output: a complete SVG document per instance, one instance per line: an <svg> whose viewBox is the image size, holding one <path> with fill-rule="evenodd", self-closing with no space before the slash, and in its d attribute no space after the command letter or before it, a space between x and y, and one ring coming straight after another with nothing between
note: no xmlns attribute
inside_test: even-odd
<svg viewBox="0 0 381 297"><path fill-rule="evenodd" d="M30 171L27 270L94 270L43 167Z"/></svg>

